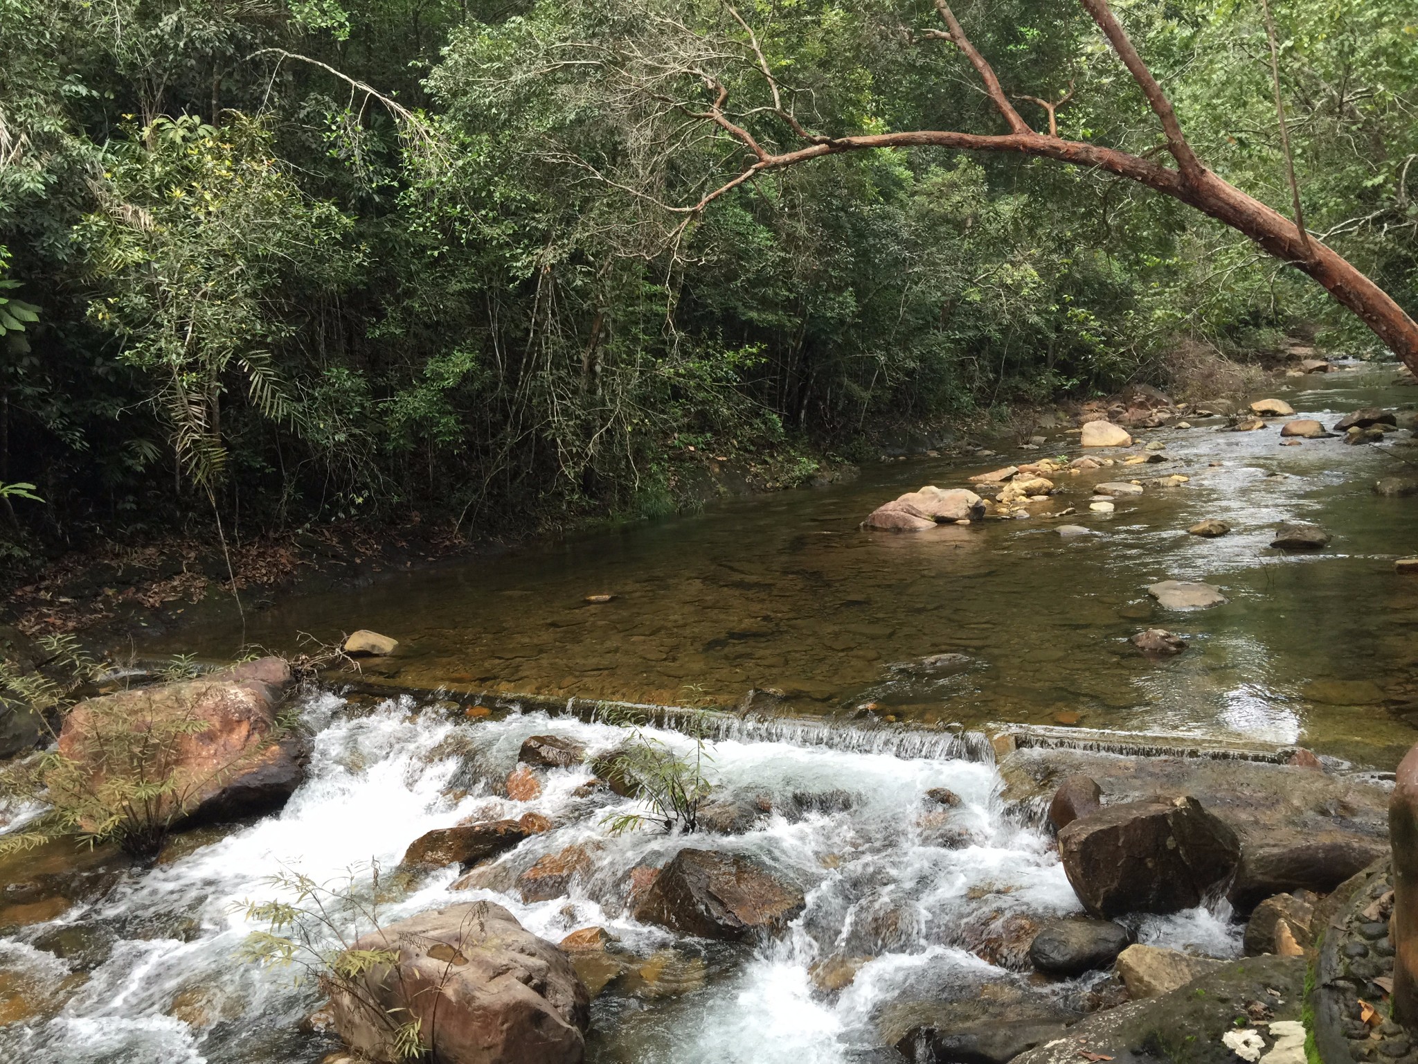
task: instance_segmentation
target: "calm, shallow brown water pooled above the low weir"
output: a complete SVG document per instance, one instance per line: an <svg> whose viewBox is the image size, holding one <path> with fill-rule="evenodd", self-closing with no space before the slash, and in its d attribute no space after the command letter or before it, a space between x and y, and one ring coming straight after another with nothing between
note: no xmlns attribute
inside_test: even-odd
<svg viewBox="0 0 1418 1064"><path fill-rule="evenodd" d="M1391 380L1391 369L1330 373L1279 394L1330 424L1358 406L1418 399ZM849 485L291 599L252 619L248 637L292 648L298 631L333 640L376 628L401 640L397 680L413 685L713 705L771 688L783 712L1221 732L1391 767L1414 739L1400 718L1418 711L1418 580L1391 565L1418 546L1418 498L1378 498L1371 484L1418 461L1409 434L1385 447L1283 447L1278 424L1143 436L1164 441L1171 461L1059 477L1062 492L1029 521L862 532L862 516L902 491L963 485L991 468L893 462ZM1078 454L1076 437L1049 448ZM1149 487L1112 515L1083 505L1093 482L1168 472L1191 481ZM1058 536L1042 515L1064 506L1103 535ZM1185 533L1204 518L1235 531ZM1334 539L1314 555L1280 555L1268 545L1285 519L1316 521ZM1143 590L1161 579L1204 579L1231 602L1167 613ZM1127 643L1147 626L1191 645L1147 661ZM240 641L231 627L169 638L169 650L211 654ZM970 655L970 667L950 677L889 668L946 651ZM1378 699L1305 694L1358 680L1377 682Z"/></svg>

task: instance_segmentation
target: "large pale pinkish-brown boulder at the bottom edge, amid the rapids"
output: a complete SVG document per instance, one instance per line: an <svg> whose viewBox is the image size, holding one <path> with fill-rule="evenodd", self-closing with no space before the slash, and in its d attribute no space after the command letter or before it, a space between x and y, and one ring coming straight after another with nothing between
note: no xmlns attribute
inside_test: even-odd
<svg viewBox="0 0 1418 1064"><path fill-rule="evenodd" d="M397 952L357 977L357 993L330 987L340 1037L376 1061L398 1060L390 1016L415 1020L444 1064L580 1064L590 994L570 959L501 905L451 905L364 935L354 951Z"/></svg>

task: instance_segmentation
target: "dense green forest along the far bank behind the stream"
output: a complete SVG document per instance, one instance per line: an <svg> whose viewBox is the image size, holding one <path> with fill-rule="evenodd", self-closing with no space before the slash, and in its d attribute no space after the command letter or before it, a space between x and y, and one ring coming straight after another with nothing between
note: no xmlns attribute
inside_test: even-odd
<svg viewBox="0 0 1418 1064"><path fill-rule="evenodd" d="M1082 6L954 11L1035 128L1163 148ZM1411 0L1115 11L1208 166L1289 214L1289 155L1314 238L1418 311ZM654 515L706 455L788 484L1201 350L1381 349L1049 159L851 152L689 210L744 166L720 91L769 150L1001 132L942 37L923 0L0 0L0 556Z"/></svg>

